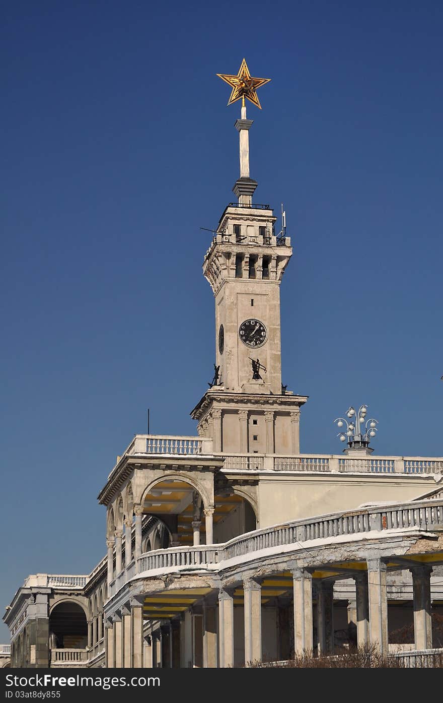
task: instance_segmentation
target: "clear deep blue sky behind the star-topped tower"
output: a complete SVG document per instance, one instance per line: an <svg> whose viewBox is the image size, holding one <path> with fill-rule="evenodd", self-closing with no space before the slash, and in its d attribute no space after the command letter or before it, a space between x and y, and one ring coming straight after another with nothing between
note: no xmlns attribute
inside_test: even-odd
<svg viewBox="0 0 443 703"><path fill-rule="evenodd" d="M214 358L201 275L238 177L243 56L256 202L282 200L284 383L301 449L441 456L438 1L3 5L0 605L105 553L96 496L136 432L195 434ZM0 641L8 641L2 626Z"/></svg>

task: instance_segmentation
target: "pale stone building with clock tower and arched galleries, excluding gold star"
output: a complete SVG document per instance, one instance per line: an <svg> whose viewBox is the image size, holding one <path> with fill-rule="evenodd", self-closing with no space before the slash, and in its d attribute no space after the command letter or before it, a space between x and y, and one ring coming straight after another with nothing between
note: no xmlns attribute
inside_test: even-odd
<svg viewBox="0 0 443 703"><path fill-rule="evenodd" d="M300 453L308 397L282 385L280 343L293 250L253 203L251 125L243 106L238 202L204 257L216 363L198 434L134 437L98 496L106 556L91 574L28 576L4 616L11 666L443 647L443 458L373 456L355 437L341 455Z"/></svg>

